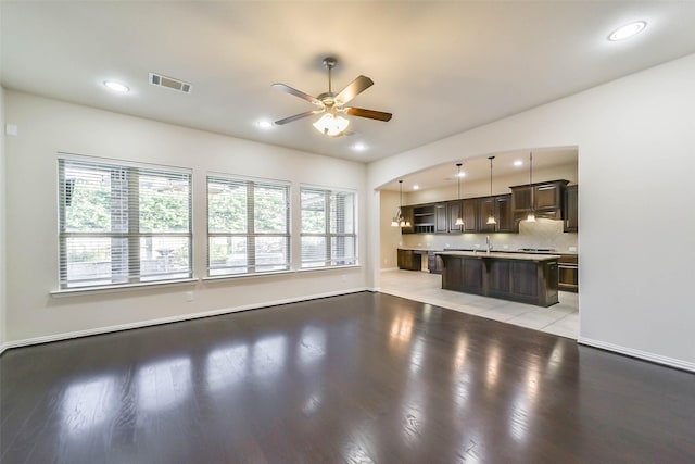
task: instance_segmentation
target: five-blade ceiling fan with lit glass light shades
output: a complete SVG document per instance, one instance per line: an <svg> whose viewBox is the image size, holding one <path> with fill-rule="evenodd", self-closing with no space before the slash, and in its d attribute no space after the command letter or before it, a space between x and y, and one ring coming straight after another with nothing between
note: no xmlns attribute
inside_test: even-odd
<svg viewBox="0 0 695 464"><path fill-rule="evenodd" d="M374 85L367 76L357 76L355 80L348 84L348 86L338 93L333 93L331 87L331 70L336 66L338 60L332 57L324 59L324 66L328 68L328 91L313 97L308 93L304 93L301 90L296 90L286 84L273 84L273 87L278 90L282 90L301 99L304 99L316 106L314 110L305 111L304 113L295 114L293 116L285 117L276 121L275 124L282 125L291 123L292 121L301 120L302 117L312 116L314 114L324 115L314 123L314 127L327 136L338 137L345 134L345 129L350 124L350 121L343 117L341 114L350 116L367 117L369 120L377 121L390 121L392 114L384 113L382 111L365 110L363 108L345 106L348 102L357 97L363 91L367 90Z"/></svg>

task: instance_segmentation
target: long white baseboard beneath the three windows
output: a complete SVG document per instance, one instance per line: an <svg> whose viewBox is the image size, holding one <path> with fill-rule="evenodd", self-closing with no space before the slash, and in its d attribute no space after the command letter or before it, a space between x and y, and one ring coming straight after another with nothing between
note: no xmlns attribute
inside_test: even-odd
<svg viewBox="0 0 695 464"><path fill-rule="evenodd" d="M316 293L316 294L307 294L307 296L296 297L296 298L287 298L282 300L264 301L262 303L244 304L241 306L223 308L219 310L204 311L201 313L182 314L182 315L172 316L172 317L161 317L157 319L139 321L137 323L119 324L119 325L108 326L108 327L97 327L97 328L90 328L86 330L76 330L76 331L70 331L64 334L48 335L43 337L26 338L23 340L13 340L13 341L8 341L3 344L0 344L0 354L3 351L9 350L11 348L28 347L31 344L49 343L51 341L60 341L60 340L70 340L72 338L89 337L92 335L109 334L112 331L130 330L134 328L150 327L150 326L155 326L161 324L170 324L170 323L178 323L184 321L198 319L202 317L219 316L223 314L237 313L240 311L257 310L261 308L277 306L280 304L299 303L301 301L318 300L320 298L328 298L328 297L338 297L340 294L359 293L361 291L370 291L370 290L367 287L361 287L361 288L353 288L353 289L346 289L346 290L329 291L326 293Z"/></svg>

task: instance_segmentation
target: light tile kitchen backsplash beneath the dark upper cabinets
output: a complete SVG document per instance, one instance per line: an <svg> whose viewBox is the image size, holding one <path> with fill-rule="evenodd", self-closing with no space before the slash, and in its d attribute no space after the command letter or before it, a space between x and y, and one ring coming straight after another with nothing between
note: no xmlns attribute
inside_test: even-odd
<svg viewBox="0 0 695 464"><path fill-rule="evenodd" d="M486 234L405 234L400 247L437 249L468 248L485 249ZM579 251L577 234L564 233L563 221L538 220L535 223L519 223L519 234L490 234L492 249L516 251L520 248L551 248L558 253ZM477 247L478 246L478 247Z"/></svg>

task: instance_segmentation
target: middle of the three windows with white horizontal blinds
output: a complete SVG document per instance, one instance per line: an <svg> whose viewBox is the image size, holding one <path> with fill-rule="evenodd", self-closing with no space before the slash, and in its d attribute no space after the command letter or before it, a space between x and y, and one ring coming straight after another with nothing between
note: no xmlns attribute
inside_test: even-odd
<svg viewBox="0 0 695 464"><path fill-rule="evenodd" d="M207 176L207 274L290 268L290 187L274 180Z"/></svg>

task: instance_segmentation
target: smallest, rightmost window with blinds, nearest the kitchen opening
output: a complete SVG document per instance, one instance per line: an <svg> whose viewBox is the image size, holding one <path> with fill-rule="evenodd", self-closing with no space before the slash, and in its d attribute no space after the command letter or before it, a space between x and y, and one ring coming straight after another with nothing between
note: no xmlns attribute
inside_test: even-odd
<svg viewBox="0 0 695 464"><path fill-rule="evenodd" d="M302 268L357 264L356 196L301 189Z"/></svg>

